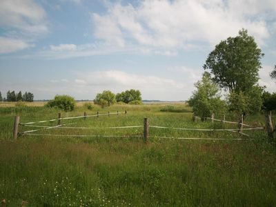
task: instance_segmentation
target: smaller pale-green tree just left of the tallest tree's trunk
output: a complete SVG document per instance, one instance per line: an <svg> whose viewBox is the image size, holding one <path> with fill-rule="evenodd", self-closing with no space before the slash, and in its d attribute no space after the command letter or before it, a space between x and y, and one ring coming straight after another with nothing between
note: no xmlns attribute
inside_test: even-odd
<svg viewBox="0 0 276 207"><path fill-rule="evenodd" d="M203 120L204 117L210 117L212 112L216 115L225 112L226 103L220 99L219 88L213 83L208 72L204 72L201 81L197 81L195 87L197 90L193 92L193 96L188 100L195 115Z"/></svg>

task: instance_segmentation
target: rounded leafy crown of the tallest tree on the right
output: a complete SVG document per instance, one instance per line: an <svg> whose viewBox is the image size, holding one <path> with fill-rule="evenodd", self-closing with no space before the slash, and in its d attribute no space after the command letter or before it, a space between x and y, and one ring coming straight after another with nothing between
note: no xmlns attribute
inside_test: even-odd
<svg viewBox="0 0 276 207"><path fill-rule="evenodd" d="M240 30L239 36L228 37L210 52L204 64L205 70L214 75L213 80L230 92L246 92L259 79L260 59L264 56L255 39L247 30Z"/></svg>

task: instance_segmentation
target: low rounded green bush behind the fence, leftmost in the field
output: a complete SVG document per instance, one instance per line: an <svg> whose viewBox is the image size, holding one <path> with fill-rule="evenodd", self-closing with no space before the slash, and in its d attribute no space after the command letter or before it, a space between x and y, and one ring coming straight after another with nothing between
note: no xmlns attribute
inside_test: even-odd
<svg viewBox="0 0 276 207"><path fill-rule="evenodd" d="M56 95L55 99L52 99L46 103L46 107L60 108L65 111L72 111L76 107L76 101L73 97L68 95Z"/></svg>

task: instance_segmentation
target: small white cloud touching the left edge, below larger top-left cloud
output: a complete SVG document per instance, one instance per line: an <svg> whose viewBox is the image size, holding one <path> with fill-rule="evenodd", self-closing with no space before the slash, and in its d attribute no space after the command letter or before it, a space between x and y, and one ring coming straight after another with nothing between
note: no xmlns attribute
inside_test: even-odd
<svg viewBox="0 0 276 207"><path fill-rule="evenodd" d="M0 54L16 52L29 48L31 45L21 39L12 39L8 37L0 37Z"/></svg>

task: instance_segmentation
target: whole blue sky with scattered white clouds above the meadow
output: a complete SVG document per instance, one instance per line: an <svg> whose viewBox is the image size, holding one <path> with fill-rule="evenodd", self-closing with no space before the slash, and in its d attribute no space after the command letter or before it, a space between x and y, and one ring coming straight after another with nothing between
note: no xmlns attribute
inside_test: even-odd
<svg viewBox="0 0 276 207"><path fill-rule="evenodd" d="M275 0L1 0L0 91L187 100L208 54L242 28L265 54L259 84L275 92Z"/></svg>

